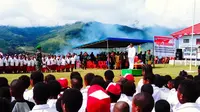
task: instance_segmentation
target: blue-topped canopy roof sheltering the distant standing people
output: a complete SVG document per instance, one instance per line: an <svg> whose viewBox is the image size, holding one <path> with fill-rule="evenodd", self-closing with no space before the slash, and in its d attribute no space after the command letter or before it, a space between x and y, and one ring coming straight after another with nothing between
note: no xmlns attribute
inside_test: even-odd
<svg viewBox="0 0 200 112"><path fill-rule="evenodd" d="M107 46L107 42L108 42L108 46ZM140 45L144 43L153 43L153 40L108 37L102 40L83 44L81 46L77 46L74 48L107 48L107 47L120 48L120 47L127 47L130 43L133 43L133 45Z"/></svg>

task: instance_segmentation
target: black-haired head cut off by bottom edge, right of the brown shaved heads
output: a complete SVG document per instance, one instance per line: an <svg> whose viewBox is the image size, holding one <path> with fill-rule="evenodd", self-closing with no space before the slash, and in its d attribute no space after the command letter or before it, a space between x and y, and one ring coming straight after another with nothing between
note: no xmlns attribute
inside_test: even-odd
<svg viewBox="0 0 200 112"><path fill-rule="evenodd" d="M158 100L155 104L155 112L170 112L170 105L166 100Z"/></svg>

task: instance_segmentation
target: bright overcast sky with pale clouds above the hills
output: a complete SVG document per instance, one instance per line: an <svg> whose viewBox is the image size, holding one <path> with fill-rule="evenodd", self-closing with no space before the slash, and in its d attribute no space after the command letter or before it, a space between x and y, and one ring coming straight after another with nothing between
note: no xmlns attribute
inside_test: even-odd
<svg viewBox="0 0 200 112"><path fill-rule="evenodd" d="M169 28L192 24L194 0L0 0L0 25L55 26L99 21ZM196 0L195 23L200 22Z"/></svg>

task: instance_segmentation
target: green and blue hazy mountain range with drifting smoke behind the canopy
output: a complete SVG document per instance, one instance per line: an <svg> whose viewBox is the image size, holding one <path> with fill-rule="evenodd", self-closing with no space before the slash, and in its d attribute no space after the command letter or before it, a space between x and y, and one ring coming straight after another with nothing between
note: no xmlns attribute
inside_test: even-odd
<svg viewBox="0 0 200 112"><path fill-rule="evenodd" d="M100 22L76 22L54 27L0 26L0 51L9 54L31 53L37 45L41 45L46 53L59 53L106 37L153 39L154 35L170 35L177 30L162 26L137 28Z"/></svg>

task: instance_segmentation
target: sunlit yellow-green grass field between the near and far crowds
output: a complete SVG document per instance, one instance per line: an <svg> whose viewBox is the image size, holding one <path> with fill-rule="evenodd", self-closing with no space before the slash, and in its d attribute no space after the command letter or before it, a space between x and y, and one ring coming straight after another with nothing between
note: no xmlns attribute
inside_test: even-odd
<svg viewBox="0 0 200 112"><path fill-rule="evenodd" d="M171 75L173 78L176 77L181 70L189 70L189 66L172 66L172 65L156 65L156 67L153 69L154 74L160 74L160 75ZM196 71L194 73L189 73L191 75L197 75L197 67L192 67L193 71ZM84 76L86 73L92 72L96 75L104 75L104 72L106 70L103 69L87 69L87 70L82 70L82 69L77 69L75 71L78 71L81 76ZM121 70L113 70L115 74L115 81L119 80L120 75L121 75ZM63 73L44 73L45 75L47 74L53 74L55 75L56 78L67 78L69 80L70 72L63 72ZM9 81L9 83L13 79L17 79L21 75L28 75L30 76L30 73L26 74L0 74L0 77L6 77ZM136 83L139 81L141 77L136 77Z"/></svg>

